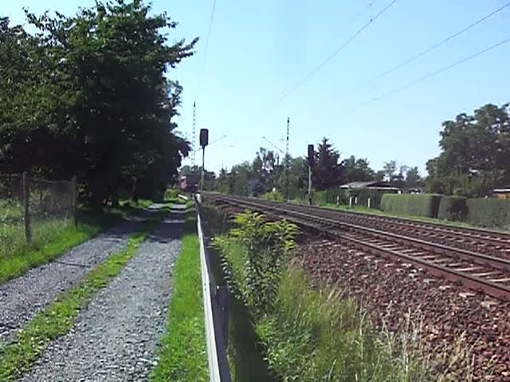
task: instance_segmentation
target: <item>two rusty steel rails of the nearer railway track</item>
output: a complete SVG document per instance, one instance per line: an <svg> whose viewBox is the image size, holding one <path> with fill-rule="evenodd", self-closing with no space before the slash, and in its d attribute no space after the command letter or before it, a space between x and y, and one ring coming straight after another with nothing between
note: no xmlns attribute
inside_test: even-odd
<svg viewBox="0 0 510 382"><path fill-rule="evenodd" d="M383 231L377 231L371 228L361 227L361 226L355 226L348 223L343 222L337 222L331 219L327 219L325 217L321 216L315 216L312 214L307 214L299 211L292 211L292 209L289 209L290 207L288 204L283 205L287 208L281 208L281 207L275 207L274 205L268 205L263 201L253 202L252 200L246 200L241 199L239 197L225 197L225 196L219 196L214 194L207 194L207 197L210 197L213 200L223 201L227 204L234 204L238 205L240 207L244 208L252 208L259 210L261 212L270 212L271 214L277 216L277 217L284 217L288 219L289 221L292 221L296 224L302 225L302 226L308 226L310 228L318 229L318 230L324 230L323 226L319 226L317 224L314 224L313 222L321 222L325 223L328 226L344 226L354 228L355 232L357 233L365 233L369 236L377 237L379 239L388 240L390 242L397 242L399 245L410 245L412 247L426 249L427 251L432 250L435 252L436 255L446 255L448 257L456 257L463 259L463 255L469 255L469 261L473 261L473 259L483 259L484 265L489 264L490 266L494 266L493 264L503 264L504 268L499 267L498 269L508 269L508 264L510 264L510 261L506 259L501 259L493 256L487 256L477 253L470 253L469 251L465 250L458 250L455 248L447 247L445 245L437 244L437 243L431 243L426 242L424 240L419 240L415 238L405 237L401 235L395 235L395 234L389 234L388 232ZM268 211L269 209L269 211ZM420 267L427 269L431 274L436 276L442 276L445 279L451 280L451 281L460 281L464 285L466 285L469 288L475 289L475 290L481 290L489 295L499 297L499 298L510 298L510 288L501 285L499 283L482 279L481 277L470 275L466 272L456 270L451 267L447 267L441 264L437 264L432 261L427 261L424 259L417 258L415 256L407 255L402 252L397 252L395 249L390 248L384 248L381 247L380 244L374 244L367 242L365 240L362 240L360 238L352 237L351 235L340 233L338 231L332 231L328 230L327 233L333 234L334 236L340 238L342 241L349 243L355 248L364 250L365 252L369 253L377 253L380 254L386 258L391 258L394 260L399 261L407 261L410 263L418 264ZM434 249L436 251L434 251ZM446 254L445 254L446 252ZM474 261L473 261L474 262ZM499 265L500 266L500 265Z"/></svg>

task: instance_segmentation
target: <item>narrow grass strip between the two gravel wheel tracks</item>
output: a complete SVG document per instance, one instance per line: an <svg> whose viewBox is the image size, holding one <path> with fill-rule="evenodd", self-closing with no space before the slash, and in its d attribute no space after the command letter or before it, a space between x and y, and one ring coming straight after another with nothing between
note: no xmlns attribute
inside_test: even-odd
<svg viewBox="0 0 510 382"><path fill-rule="evenodd" d="M69 332L78 311L90 301L95 291L108 285L119 274L158 221L149 220L140 231L130 236L125 249L99 263L77 285L39 311L16 332L11 342L0 347L0 380L8 381L21 375L52 340Z"/></svg>

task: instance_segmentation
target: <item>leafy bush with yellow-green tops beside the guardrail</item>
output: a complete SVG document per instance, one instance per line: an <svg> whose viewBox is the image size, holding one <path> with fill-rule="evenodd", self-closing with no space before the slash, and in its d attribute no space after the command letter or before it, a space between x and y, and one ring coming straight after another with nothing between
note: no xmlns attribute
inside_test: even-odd
<svg viewBox="0 0 510 382"><path fill-rule="evenodd" d="M251 211L236 215L234 221L236 228L216 236L214 244L222 254L227 285L259 318L273 307L297 227L287 221L266 222L262 214Z"/></svg>

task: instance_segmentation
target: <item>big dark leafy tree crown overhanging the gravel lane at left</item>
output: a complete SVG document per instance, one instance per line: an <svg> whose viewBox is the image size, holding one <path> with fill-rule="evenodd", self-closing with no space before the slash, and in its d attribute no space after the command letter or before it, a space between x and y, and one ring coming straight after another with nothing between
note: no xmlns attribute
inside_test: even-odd
<svg viewBox="0 0 510 382"><path fill-rule="evenodd" d="M141 0L27 21L35 35L0 19L0 173L78 174L96 206L133 179L138 194L163 193L189 150L168 70L197 39L168 45L176 22Z"/></svg>

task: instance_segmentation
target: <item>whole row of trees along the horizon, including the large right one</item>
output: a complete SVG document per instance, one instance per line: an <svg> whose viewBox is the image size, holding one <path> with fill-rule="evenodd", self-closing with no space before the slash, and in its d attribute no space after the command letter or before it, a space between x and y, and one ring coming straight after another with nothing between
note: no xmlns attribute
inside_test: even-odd
<svg viewBox="0 0 510 382"><path fill-rule="evenodd" d="M340 153L323 138L314 152L312 185L322 191L355 181L389 181L402 189L419 188L427 193L484 197L495 187L510 186L510 110L509 104L487 104L473 115L465 113L442 123L438 157L427 161L427 176L418 167L395 160L384 163L378 171L367 158ZM260 148L251 161L244 161L230 171L205 173L204 187L221 193L259 196L272 190L286 193L286 166L289 169L289 197L303 197L308 188L306 155L280 160L278 153ZM184 166L181 175L196 175L200 168Z"/></svg>

